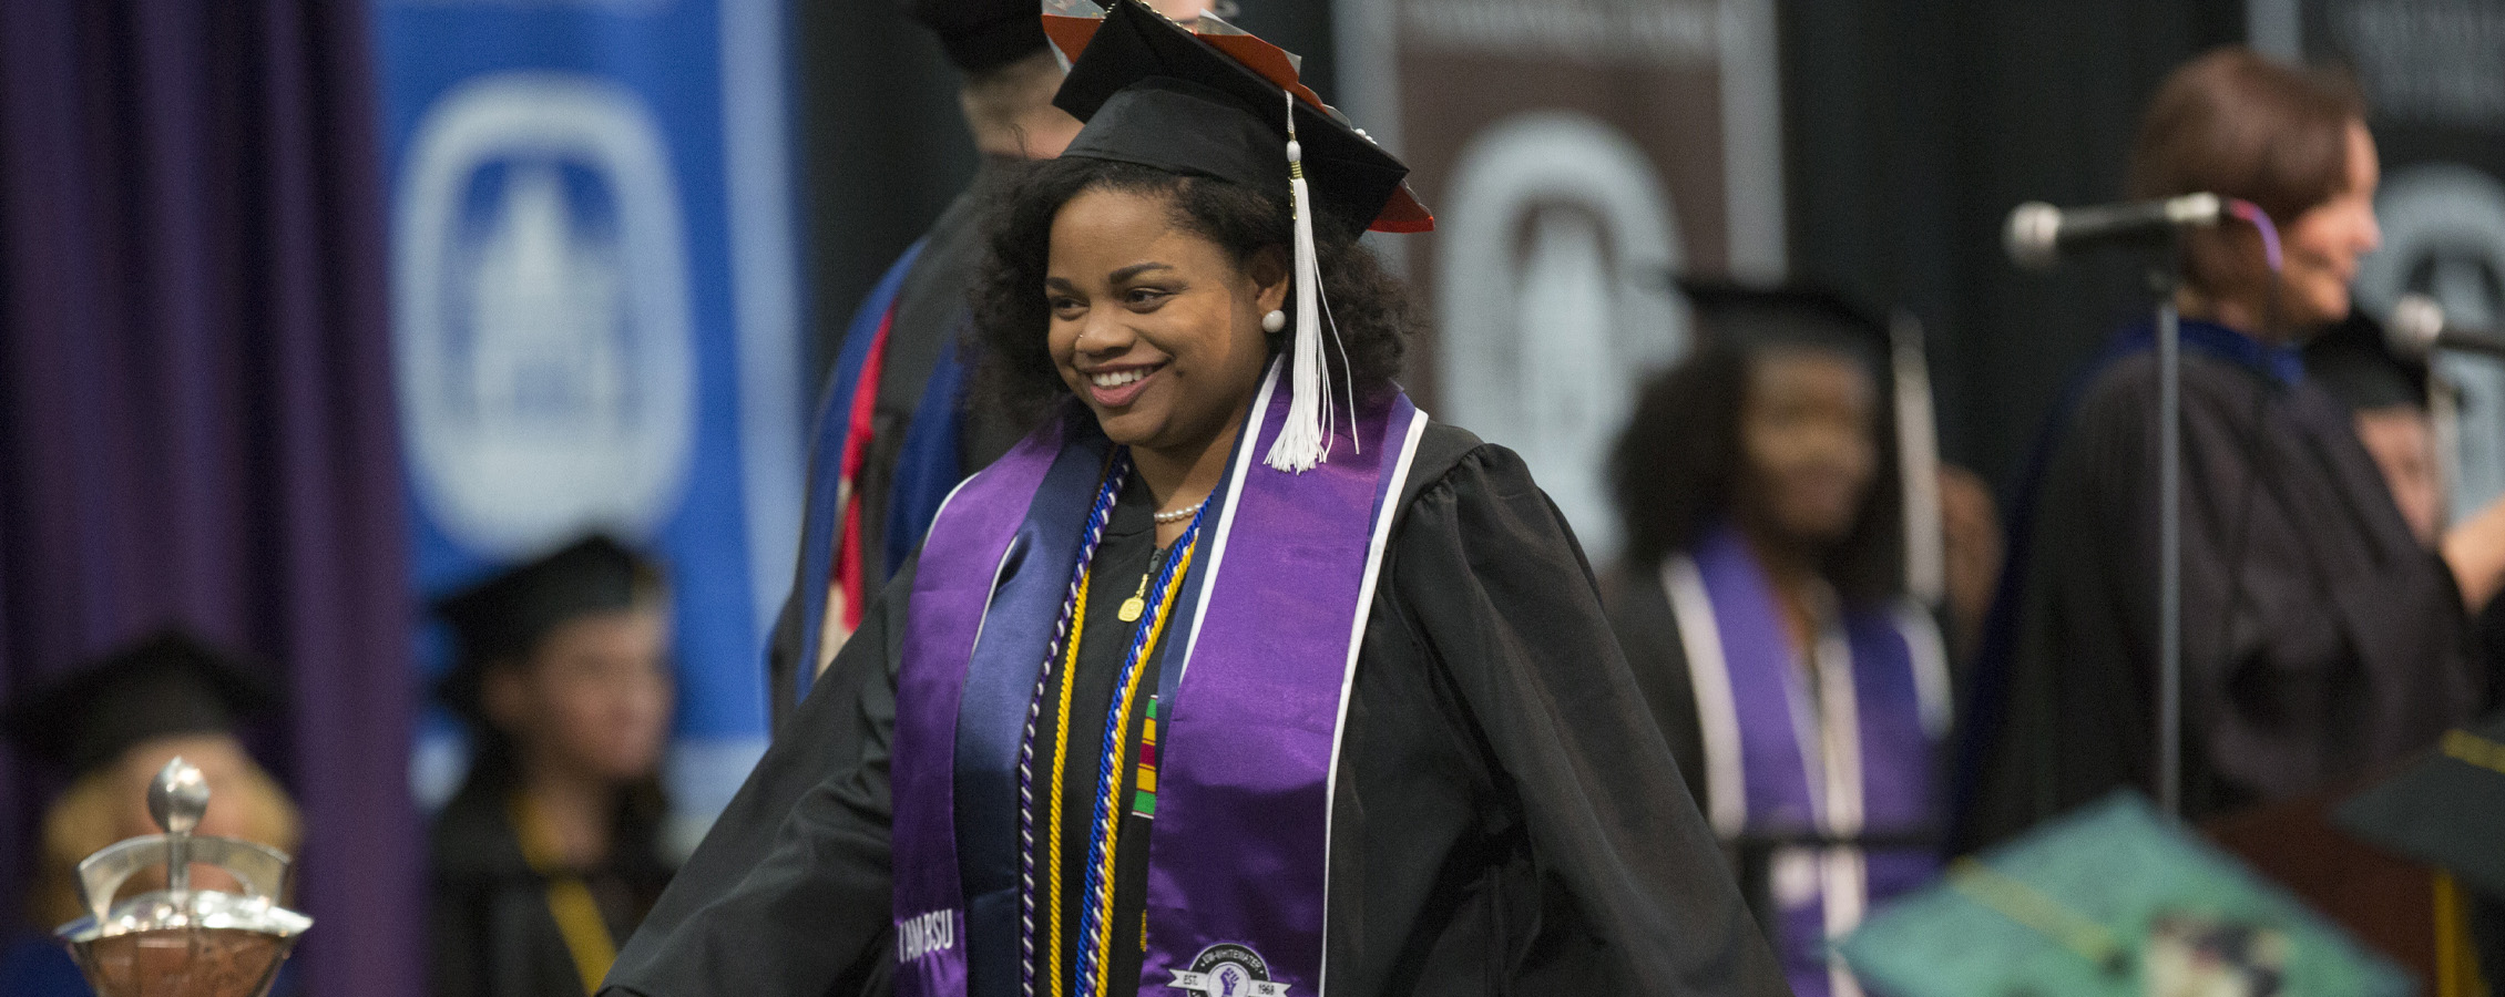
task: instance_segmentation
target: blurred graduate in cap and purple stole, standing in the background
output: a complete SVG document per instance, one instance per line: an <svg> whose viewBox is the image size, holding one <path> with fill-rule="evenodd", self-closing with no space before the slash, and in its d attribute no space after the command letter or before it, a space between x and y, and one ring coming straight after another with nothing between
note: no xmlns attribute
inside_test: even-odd
<svg viewBox="0 0 2505 997"><path fill-rule="evenodd" d="M1889 328L1824 288L1683 281L1701 346L1656 376L1611 476L1611 626L1796 994L1936 872L1949 666L1906 599Z"/></svg>

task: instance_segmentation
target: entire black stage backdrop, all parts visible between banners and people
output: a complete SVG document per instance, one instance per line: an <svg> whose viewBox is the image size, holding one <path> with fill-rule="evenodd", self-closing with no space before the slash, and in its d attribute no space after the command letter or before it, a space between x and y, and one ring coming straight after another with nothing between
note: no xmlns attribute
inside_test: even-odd
<svg viewBox="0 0 2505 997"><path fill-rule="evenodd" d="M1335 95L1328 0L1242 0L1247 30ZM2222 0L1786 0L1791 271L1924 318L1949 461L2007 483L2104 336L2144 308L2139 266L2019 273L2019 200L2119 198L2139 105L2177 63L2244 38ZM892 3L804 3L794 30L812 331L832 356L859 296L972 173L954 70Z"/></svg>

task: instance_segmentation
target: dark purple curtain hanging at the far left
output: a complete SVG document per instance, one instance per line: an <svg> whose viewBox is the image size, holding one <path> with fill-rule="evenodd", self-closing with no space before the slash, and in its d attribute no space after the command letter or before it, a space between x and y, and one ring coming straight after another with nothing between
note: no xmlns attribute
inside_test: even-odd
<svg viewBox="0 0 2505 997"><path fill-rule="evenodd" d="M418 994L371 25L0 3L0 694L165 621L286 666L316 994ZM40 792L0 764L18 922Z"/></svg>

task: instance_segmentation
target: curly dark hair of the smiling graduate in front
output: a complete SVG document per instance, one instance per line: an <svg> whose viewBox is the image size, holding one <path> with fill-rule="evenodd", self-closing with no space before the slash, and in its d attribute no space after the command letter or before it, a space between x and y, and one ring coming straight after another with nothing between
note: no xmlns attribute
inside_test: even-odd
<svg viewBox="0 0 2505 997"><path fill-rule="evenodd" d="M1045 303L1045 273L1052 218L1070 198L1087 190L1170 198L1175 225L1217 243L1235 266L1247 266L1263 248L1285 248L1295 238L1288 200L1240 183L1077 155L1022 165L989 205L992 248L974 283L969 331L969 346L982 356L974 398L997 408L1012 426L1035 426L1070 396L1045 341L1052 318ZM1358 235L1330 215L1315 218L1313 225L1323 301L1340 331L1345 371L1365 396L1390 386L1400 373L1400 353L1418 326L1418 313L1400 278L1390 276L1373 251L1358 245ZM1293 296L1288 328L1295 328ZM1270 353L1278 356L1285 343L1288 333L1273 333Z"/></svg>

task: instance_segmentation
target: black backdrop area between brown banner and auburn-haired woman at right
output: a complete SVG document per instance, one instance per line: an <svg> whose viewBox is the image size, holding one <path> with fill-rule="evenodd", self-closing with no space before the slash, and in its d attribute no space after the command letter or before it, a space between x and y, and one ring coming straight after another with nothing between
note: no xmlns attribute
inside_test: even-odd
<svg viewBox="0 0 2505 997"><path fill-rule="evenodd" d="M2147 308L2142 266L2022 273L2022 200L2114 200L2139 108L2182 60L2244 38L2217 0L1794 0L1784 5L1796 273L1929 326L1941 456L2009 483L2104 338Z"/></svg>

